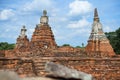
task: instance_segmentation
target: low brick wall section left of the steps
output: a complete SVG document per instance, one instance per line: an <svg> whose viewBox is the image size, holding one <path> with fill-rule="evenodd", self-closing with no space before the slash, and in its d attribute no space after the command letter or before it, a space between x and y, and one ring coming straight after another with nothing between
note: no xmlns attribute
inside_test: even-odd
<svg viewBox="0 0 120 80"><path fill-rule="evenodd" d="M15 71L21 77L35 76L33 63L30 59L0 58L0 70Z"/></svg>

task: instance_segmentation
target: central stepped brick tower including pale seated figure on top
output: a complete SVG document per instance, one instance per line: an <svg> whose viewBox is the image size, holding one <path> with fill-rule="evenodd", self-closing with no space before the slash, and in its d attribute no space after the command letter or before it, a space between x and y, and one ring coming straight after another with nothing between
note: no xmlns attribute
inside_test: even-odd
<svg viewBox="0 0 120 80"><path fill-rule="evenodd" d="M52 49L57 47L48 21L47 11L44 10L43 16L40 18L40 24L36 25L32 35L31 45Z"/></svg>

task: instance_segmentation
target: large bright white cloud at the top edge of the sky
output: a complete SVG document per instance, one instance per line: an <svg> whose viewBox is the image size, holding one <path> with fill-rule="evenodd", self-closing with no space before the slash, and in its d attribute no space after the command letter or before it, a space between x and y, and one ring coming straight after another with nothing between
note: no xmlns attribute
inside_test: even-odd
<svg viewBox="0 0 120 80"><path fill-rule="evenodd" d="M74 0L69 4L69 15L86 14L92 11L92 4L88 1Z"/></svg>

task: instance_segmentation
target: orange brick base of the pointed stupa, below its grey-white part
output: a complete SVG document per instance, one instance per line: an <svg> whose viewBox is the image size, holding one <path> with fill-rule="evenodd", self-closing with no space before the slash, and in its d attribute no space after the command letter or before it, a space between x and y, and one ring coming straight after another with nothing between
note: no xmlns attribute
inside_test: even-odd
<svg viewBox="0 0 120 80"><path fill-rule="evenodd" d="M115 52L113 51L112 46L109 41L92 41L89 40L86 46L86 52L89 54L94 54L96 52L100 52L102 56L108 55L113 56Z"/></svg>

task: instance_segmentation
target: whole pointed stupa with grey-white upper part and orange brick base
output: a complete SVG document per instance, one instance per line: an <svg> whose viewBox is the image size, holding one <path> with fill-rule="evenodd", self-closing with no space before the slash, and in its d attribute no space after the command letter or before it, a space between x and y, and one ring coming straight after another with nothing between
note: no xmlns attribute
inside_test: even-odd
<svg viewBox="0 0 120 80"><path fill-rule="evenodd" d="M102 24L100 23L97 8L94 10L94 19L92 31L86 46L87 53L100 53L100 55L115 55L112 46L109 43L106 35L103 32Z"/></svg>

